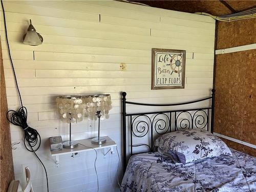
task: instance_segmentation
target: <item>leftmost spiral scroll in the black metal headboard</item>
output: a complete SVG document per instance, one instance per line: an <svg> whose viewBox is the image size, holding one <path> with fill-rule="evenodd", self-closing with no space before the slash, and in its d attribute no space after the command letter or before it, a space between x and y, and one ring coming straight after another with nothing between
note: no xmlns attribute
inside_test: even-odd
<svg viewBox="0 0 256 192"><path fill-rule="evenodd" d="M135 120L139 117L143 117L145 116L149 121L146 122L145 120L140 120L140 121L136 121ZM144 125L140 125L140 124L143 124ZM136 126L134 127L134 125L136 124ZM136 136L136 137L144 137L147 133L148 133L148 130L150 130L150 126L151 126L152 122L151 122L151 119L150 117L148 117L147 115L138 115L137 117L135 117L133 119L133 122L132 122L132 132L133 134ZM145 126L146 125L146 126ZM139 126L141 127L141 129L139 129ZM136 131L138 133L143 133L142 135L137 135L135 132L134 132L134 128L136 128Z"/></svg>

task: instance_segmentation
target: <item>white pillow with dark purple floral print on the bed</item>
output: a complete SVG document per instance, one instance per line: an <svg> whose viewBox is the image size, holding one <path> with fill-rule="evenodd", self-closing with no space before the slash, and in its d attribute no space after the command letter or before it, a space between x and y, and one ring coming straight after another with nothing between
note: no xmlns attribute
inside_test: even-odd
<svg viewBox="0 0 256 192"><path fill-rule="evenodd" d="M160 153L177 163L188 163L222 154L232 156L227 145L217 136L202 129L181 130L164 134L155 141Z"/></svg>

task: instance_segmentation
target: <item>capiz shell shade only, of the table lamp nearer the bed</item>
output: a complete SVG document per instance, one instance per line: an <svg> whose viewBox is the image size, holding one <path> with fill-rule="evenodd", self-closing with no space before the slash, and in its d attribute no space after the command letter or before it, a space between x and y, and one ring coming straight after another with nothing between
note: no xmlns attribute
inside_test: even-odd
<svg viewBox="0 0 256 192"><path fill-rule="evenodd" d="M110 94L85 96L84 104L87 105L85 113L90 120L97 120L96 112L100 112L100 119L109 118L109 111L112 109Z"/></svg>

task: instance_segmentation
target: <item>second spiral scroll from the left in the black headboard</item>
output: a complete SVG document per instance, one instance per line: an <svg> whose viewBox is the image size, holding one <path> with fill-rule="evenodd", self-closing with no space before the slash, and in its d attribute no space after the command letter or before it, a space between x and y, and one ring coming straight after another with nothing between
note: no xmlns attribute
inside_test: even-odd
<svg viewBox="0 0 256 192"><path fill-rule="evenodd" d="M154 124L155 119L156 119L159 115L164 115L166 119L163 119L163 118L157 119L156 122L155 122L155 124ZM167 121L167 123L166 123L166 121ZM162 126L162 123L161 123L161 122L164 124L163 126ZM167 126L167 125L168 125L168 126ZM158 133L158 134L160 134L160 135L165 134L165 133L170 129L170 119L169 119L169 117L168 117L165 113L159 113L159 114L155 115L155 117L154 117L153 120L152 120L152 127L155 128L156 133ZM167 128L167 129L166 129L166 128ZM162 133L159 133L159 132L158 132L158 131L163 131L163 130L165 130L165 131L162 132Z"/></svg>

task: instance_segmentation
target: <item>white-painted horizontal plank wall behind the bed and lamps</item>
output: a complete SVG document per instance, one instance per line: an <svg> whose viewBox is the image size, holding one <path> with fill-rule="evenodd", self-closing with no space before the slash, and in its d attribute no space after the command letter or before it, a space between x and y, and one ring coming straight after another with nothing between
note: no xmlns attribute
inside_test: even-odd
<svg viewBox="0 0 256 192"><path fill-rule="evenodd" d="M121 91L131 101L158 103L210 94L215 35L215 21L210 17L113 1L5 1L4 6L18 84L29 124L42 138L38 155L47 167L51 191L96 191L94 152L77 158L62 156L59 168L50 156L48 138L68 134L68 124L56 113L56 95L111 94L113 109L110 119L101 124L101 134L115 140L121 152ZM29 19L44 37L44 44L22 44ZM1 41L8 106L17 109L2 10ZM185 89L151 90L152 48L187 51ZM126 69L121 71L123 63ZM90 138L97 132L96 123L88 120L72 124L72 128L73 139ZM21 141L23 132L11 125L11 138ZM29 166L34 190L46 191L42 167L23 144L13 151L13 162L15 179L23 180L24 167ZM118 191L117 163L117 154L104 159L98 152L101 191Z"/></svg>

